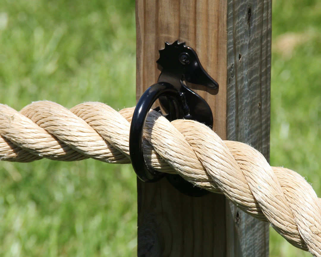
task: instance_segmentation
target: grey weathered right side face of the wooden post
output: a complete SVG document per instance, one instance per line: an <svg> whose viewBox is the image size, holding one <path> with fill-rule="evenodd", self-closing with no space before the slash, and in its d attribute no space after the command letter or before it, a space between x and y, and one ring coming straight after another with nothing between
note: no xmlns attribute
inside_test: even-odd
<svg viewBox="0 0 321 257"><path fill-rule="evenodd" d="M269 161L271 0L229 1L227 70L227 138L255 147ZM234 218L229 235L239 238L231 251L268 256L268 224L227 207Z"/></svg>

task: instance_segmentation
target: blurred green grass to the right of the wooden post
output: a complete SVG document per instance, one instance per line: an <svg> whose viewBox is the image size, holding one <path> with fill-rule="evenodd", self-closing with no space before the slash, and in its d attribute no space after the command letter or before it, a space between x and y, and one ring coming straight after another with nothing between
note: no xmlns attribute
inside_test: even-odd
<svg viewBox="0 0 321 257"><path fill-rule="evenodd" d="M275 0L272 10L271 165L321 196L321 2ZM270 256L311 256L270 229Z"/></svg>

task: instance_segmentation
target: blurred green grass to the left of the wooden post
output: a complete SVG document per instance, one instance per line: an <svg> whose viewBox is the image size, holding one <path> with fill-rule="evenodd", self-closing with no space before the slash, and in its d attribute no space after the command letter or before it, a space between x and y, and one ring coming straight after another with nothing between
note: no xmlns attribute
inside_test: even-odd
<svg viewBox="0 0 321 257"><path fill-rule="evenodd" d="M0 102L135 104L134 1L1 1ZM94 160L0 163L0 256L133 256L136 179Z"/></svg>

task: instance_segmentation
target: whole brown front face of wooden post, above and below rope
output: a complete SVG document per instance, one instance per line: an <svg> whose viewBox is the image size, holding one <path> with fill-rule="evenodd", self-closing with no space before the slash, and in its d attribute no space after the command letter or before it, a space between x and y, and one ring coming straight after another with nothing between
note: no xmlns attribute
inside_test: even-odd
<svg viewBox="0 0 321 257"><path fill-rule="evenodd" d="M195 49L209 75L222 85L221 97L189 86L210 104L214 128L225 138L226 3L138 0L136 33L137 99L158 79L156 60L165 41L185 41ZM138 181L137 187L138 256L226 256L223 195L188 197L166 179L152 184Z"/></svg>

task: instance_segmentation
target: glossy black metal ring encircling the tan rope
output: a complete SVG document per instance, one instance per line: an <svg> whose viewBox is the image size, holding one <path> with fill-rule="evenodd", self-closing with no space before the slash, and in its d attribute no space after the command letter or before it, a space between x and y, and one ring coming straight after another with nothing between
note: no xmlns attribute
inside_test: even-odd
<svg viewBox="0 0 321 257"><path fill-rule="evenodd" d="M167 82L159 82L150 86L139 99L130 125L129 132L129 154L136 175L144 182L155 182L160 180L165 174L156 170L151 170L146 166L143 155L143 129L148 112L153 103L160 97L166 96L172 100L169 115L171 120L182 117L182 103L178 90ZM173 117L173 116L176 117Z"/></svg>

